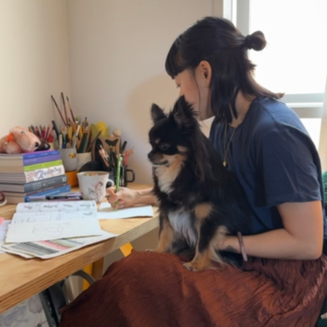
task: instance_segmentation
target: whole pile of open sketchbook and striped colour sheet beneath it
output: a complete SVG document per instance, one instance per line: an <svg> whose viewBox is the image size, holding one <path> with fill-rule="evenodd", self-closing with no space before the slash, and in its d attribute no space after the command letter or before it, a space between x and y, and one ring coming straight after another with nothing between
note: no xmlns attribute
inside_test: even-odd
<svg viewBox="0 0 327 327"><path fill-rule="evenodd" d="M96 210L95 201L20 203L0 250L49 259L116 236L101 230Z"/></svg>

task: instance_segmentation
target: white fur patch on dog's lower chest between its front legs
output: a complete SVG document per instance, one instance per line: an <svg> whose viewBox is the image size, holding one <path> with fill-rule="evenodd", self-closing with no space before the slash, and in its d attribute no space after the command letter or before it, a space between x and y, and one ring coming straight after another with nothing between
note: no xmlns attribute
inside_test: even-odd
<svg viewBox="0 0 327 327"><path fill-rule="evenodd" d="M194 219L191 214L184 208L168 213L168 220L179 235L184 237L190 246L195 246L197 243L197 232L194 229Z"/></svg>

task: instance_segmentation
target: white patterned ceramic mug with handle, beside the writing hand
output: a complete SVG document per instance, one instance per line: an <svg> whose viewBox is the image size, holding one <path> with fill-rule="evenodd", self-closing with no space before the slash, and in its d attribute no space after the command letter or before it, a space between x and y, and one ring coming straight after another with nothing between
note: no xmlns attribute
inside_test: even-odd
<svg viewBox="0 0 327 327"><path fill-rule="evenodd" d="M77 179L83 200L95 200L96 203L105 198L106 187L115 184L106 171L84 171L77 173Z"/></svg>

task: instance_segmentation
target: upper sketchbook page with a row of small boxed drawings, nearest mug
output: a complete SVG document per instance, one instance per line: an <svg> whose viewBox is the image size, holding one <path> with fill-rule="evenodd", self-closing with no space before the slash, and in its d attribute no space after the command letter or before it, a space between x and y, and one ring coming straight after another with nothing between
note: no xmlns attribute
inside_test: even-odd
<svg viewBox="0 0 327 327"><path fill-rule="evenodd" d="M40 201L19 203L17 213L27 212L96 212L95 201Z"/></svg>

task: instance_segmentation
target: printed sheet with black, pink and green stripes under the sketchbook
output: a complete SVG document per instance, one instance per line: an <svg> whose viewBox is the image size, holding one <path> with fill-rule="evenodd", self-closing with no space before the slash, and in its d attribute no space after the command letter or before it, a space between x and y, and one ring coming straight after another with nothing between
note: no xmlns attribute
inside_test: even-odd
<svg viewBox="0 0 327 327"><path fill-rule="evenodd" d="M23 257L50 259L116 236L116 234L101 231L99 236L6 244L0 249Z"/></svg>

